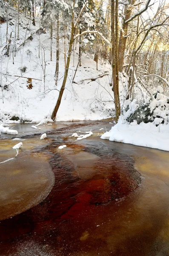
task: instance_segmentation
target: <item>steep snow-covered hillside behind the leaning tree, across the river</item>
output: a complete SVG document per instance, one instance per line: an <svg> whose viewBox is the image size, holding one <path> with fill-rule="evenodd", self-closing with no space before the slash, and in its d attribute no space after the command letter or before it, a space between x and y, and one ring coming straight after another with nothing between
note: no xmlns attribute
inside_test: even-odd
<svg viewBox="0 0 169 256"><path fill-rule="evenodd" d="M4 10L1 9L0 15L1 17L5 15ZM51 61L49 33L43 33L42 29L39 30L37 20L36 26L32 26L32 21L30 22L25 15L20 14L20 40L15 44L16 13L11 10L9 15L11 20L8 34L12 32L9 56L4 55L6 22L0 24L1 46L3 46L0 56L2 84L0 121L12 122L9 119L23 122L50 120L63 81L64 43L60 40L59 79L56 86L54 81L56 40L53 39L52 42ZM32 35L31 39L30 35ZM25 39L26 42L23 46ZM112 116L114 95L112 87L110 87L111 68L109 64L98 65L97 71L96 62L91 60L92 57L85 53L82 55L82 66L78 67L74 83L72 83L78 62L77 51L72 52L66 90L64 90L56 121L95 120ZM103 77L95 81L91 80L100 76ZM27 78L32 79L31 90L27 88Z"/></svg>

